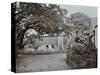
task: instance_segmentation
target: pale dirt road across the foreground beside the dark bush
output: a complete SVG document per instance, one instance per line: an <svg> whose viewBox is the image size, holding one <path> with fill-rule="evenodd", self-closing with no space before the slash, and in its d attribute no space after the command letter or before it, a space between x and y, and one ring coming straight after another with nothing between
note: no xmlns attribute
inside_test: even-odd
<svg viewBox="0 0 100 75"><path fill-rule="evenodd" d="M70 69L65 59L65 53L19 56L16 60L16 70L17 72L34 72Z"/></svg>

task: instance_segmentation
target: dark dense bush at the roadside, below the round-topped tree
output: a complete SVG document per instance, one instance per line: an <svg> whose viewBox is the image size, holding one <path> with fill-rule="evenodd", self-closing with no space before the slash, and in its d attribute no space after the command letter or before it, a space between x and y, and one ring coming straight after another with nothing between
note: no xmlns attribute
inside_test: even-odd
<svg viewBox="0 0 100 75"><path fill-rule="evenodd" d="M90 68L97 66L97 50L87 49L83 44L73 43L67 51L67 63L74 68Z"/></svg>

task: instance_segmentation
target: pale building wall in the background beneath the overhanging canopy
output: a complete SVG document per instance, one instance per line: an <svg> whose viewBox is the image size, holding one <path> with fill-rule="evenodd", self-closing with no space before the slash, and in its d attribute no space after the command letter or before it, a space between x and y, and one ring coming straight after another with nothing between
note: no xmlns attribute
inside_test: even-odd
<svg viewBox="0 0 100 75"><path fill-rule="evenodd" d="M67 46L64 45L64 42L66 37L64 36L58 36L58 37L43 37L43 40L40 41L41 42L41 46L42 47L47 47L48 46L48 50L64 50L65 47ZM52 45L54 48L52 48Z"/></svg>

